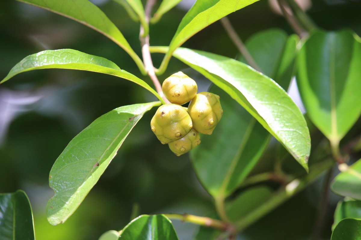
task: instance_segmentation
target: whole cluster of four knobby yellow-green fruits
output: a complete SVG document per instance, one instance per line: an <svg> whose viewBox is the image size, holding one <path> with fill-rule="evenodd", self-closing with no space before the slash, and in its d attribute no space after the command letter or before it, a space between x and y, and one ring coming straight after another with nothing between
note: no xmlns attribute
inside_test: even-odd
<svg viewBox="0 0 361 240"><path fill-rule="evenodd" d="M197 83L177 72L164 80L162 90L171 104L160 106L151 120L151 129L162 144L177 156L200 144L200 135L212 134L222 117L219 96L210 92L197 94ZM181 105L188 103L188 109Z"/></svg>

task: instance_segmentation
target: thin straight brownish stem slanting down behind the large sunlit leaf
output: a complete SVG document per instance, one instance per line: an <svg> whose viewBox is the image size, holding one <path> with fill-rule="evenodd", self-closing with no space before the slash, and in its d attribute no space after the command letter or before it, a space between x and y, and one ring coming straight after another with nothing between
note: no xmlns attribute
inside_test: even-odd
<svg viewBox="0 0 361 240"><path fill-rule="evenodd" d="M221 23L223 27L225 28L228 36L233 41L234 45L237 47L238 51L243 55L244 59L247 61L247 63L254 69L256 69L258 72L262 72L261 69L258 67L255 60L253 60L251 54L247 50L247 48L244 46L243 41L240 39L236 31L234 30L231 22L227 17L221 18Z"/></svg>

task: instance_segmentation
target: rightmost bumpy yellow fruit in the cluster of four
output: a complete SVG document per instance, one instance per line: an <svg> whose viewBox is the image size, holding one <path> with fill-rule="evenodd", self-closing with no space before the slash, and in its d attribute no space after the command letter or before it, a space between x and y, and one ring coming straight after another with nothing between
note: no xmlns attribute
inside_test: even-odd
<svg viewBox="0 0 361 240"><path fill-rule="evenodd" d="M219 96L210 92L200 92L190 102L188 113L197 132L212 134L223 114Z"/></svg>

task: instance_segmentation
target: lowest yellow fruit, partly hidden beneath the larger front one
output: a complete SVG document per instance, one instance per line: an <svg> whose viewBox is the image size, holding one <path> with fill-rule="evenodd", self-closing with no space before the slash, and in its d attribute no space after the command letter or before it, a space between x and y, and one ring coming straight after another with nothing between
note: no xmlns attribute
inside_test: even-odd
<svg viewBox="0 0 361 240"><path fill-rule="evenodd" d="M196 130L191 129L181 139L169 142L168 146L175 155L180 156L195 148L200 142L199 133Z"/></svg>

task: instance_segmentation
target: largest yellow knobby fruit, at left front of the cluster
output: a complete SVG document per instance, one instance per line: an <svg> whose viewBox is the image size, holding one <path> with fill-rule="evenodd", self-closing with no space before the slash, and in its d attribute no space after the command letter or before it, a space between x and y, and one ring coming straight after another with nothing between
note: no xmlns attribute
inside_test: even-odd
<svg viewBox="0 0 361 240"><path fill-rule="evenodd" d="M193 127L187 111L178 104L165 104L158 108L151 128L162 144L182 138Z"/></svg>

